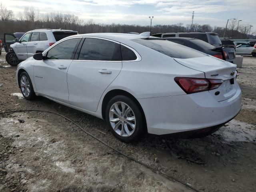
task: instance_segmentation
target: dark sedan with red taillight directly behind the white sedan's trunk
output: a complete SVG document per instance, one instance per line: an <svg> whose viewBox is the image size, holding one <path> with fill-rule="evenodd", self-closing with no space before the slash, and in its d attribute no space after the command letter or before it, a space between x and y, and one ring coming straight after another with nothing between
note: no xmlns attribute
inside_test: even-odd
<svg viewBox="0 0 256 192"><path fill-rule="evenodd" d="M174 37L174 38L164 38L164 39L193 48L195 50L201 51L203 53L206 53L208 55L214 56L219 59L226 60L228 62L233 63L236 57L236 52L233 45L214 47L213 45L205 41L202 41L200 39L185 38L185 37L183 38Z"/></svg>

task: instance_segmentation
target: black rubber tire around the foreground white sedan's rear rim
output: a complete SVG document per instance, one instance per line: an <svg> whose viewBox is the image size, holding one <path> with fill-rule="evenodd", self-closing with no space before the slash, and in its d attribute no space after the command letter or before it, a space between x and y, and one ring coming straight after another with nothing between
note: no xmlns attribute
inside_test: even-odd
<svg viewBox="0 0 256 192"><path fill-rule="evenodd" d="M112 105L116 102L122 102L122 103L127 105L126 107L129 106L132 109L132 111L129 114L133 114L136 118L136 123L134 123L135 128L134 128L133 133L130 136L121 136L120 134L116 133L114 128L112 128L112 126L111 126L111 123L110 123L110 109L111 109ZM124 114L122 114L122 116L124 116ZM113 118L116 118L116 117L117 116L115 115L115 117L113 117ZM124 117L126 117L126 116L124 116ZM126 117L126 118L128 118L128 117ZM128 98L127 96L118 95L118 96L113 97L108 102L108 105L106 107L106 122L107 122L107 124L109 126L109 129L112 132L112 134L114 134L114 136L122 142L126 142L126 143L134 142L134 141L136 141L140 138L140 136L143 132L144 123L143 123L143 118L142 118L141 111L140 111L139 107L137 106L137 104L132 99ZM120 132L121 132L122 126L124 126L123 124L126 124L126 122L124 121L124 122L121 122L121 123L122 124L120 124L120 128L118 129ZM130 128L130 130L132 130L131 126L129 126L128 123L126 124L126 126L128 126Z"/></svg>

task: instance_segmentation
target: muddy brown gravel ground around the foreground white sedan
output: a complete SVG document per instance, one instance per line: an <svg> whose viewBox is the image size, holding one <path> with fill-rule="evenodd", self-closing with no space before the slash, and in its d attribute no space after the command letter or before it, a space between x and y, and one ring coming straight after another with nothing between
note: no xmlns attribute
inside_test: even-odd
<svg viewBox="0 0 256 192"><path fill-rule="evenodd" d="M20 98L16 67L0 56L0 113L59 112L118 150L203 192L256 191L256 58L244 57L242 110L201 139L146 135L124 144L94 116L46 98ZM192 191L125 158L63 118L44 112L0 116L0 191Z"/></svg>

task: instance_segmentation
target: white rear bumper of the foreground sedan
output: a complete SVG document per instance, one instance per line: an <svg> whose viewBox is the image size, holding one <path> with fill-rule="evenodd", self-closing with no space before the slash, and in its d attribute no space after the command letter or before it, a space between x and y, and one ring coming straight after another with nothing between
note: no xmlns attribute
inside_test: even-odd
<svg viewBox="0 0 256 192"><path fill-rule="evenodd" d="M221 102L209 92L144 98L139 102L148 133L161 135L221 126L239 113L241 98L238 86L234 96Z"/></svg>

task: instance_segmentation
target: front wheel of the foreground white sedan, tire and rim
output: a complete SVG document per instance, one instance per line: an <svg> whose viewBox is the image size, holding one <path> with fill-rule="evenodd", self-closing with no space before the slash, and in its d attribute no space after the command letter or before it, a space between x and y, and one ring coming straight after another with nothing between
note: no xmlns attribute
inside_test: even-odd
<svg viewBox="0 0 256 192"><path fill-rule="evenodd" d="M19 85L21 93L26 100L32 100L36 97L32 82L27 72L22 72L20 74Z"/></svg>

